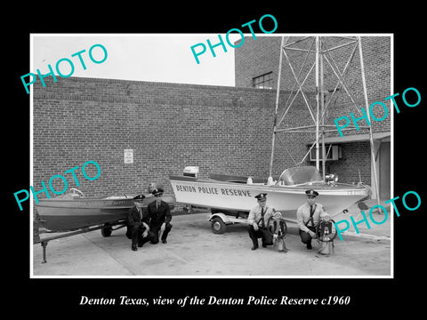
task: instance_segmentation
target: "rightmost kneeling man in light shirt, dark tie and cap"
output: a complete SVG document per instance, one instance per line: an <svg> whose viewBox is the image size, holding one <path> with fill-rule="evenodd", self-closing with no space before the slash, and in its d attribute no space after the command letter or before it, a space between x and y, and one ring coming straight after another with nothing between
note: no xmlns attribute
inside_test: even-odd
<svg viewBox="0 0 427 320"><path fill-rule="evenodd" d="M296 219L298 220L298 228L300 229L301 241L307 244L307 249L312 249L311 239L315 239L316 226L322 219L328 220L329 215L326 213L322 204L316 204L318 192L310 189L305 191L307 202L302 204L296 211Z"/></svg>

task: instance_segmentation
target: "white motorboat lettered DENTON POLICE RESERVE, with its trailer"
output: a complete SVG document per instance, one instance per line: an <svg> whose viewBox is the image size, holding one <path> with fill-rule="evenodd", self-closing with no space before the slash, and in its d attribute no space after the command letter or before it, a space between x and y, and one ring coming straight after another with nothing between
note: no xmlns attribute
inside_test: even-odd
<svg viewBox="0 0 427 320"><path fill-rule="evenodd" d="M186 170L198 172L197 167ZM247 213L256 205L254 196L260 193L266 193L268 204L280 212L285 220L292 222L296 219L296 210L306 201L307 189L318 191L318 203L325 206L331 217L371 195L371 188L363 183L338 183L334 175L322 180L314 166L288 168L276 181L225 174L210 174L209 179L198 179L197 174L185 174L186 170L183 176L169 177L176 201L210 208L213 215L221 217L225 224L246 222ZM223 214L236 215L236 219ZM220 230L214 228L215 231Z"/></svg>

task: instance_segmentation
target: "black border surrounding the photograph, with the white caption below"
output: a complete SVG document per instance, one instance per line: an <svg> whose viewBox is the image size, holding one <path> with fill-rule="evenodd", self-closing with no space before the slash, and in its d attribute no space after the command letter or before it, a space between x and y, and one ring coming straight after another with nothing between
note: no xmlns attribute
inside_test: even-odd
<svg viewBox="0 0 427 320"><path fill-rule="evenodd" d="M279 4L279 5L278 5ZM38 9L32 8L37 7ZM289 312L319 312L318 316L384 316L393 310L423 307L425 255L425 204L408 212L399 204L401 216L394 221L393 279L30 279L28 214L24 204L20 212L13 192L29 187L29 95L23 90L20 76L29 70L30 33L226 33L250 20L272 14L278 20L275 33L393 33L394 92L408 87L421 92L421 103L415 108L404 106L400 97L399 115L394 114L394 195L403 196L414 190L426 201L423 155L425 136L422 130L427 100L425 90L425 50L421 6L391 4L373 8L360 2L327 2L310 5L237 4L229 9L219 3L162 4L158 8L145 4L87 4L57 6L30 4L17 9L11 19L3 20L4 56L2 87L4 88L4 152L3 172L6 173L3 211L4 234L2 264L4 265L5 305L11 310L28 310L35 316L181 316L196 313L203 316L231 316L247 312L251 316L282 315ZM9 7L10 8L10 7ZM7 15L7 14L6 14ZM265 27L266 29L267 26ZM245 31L245 30L244 30ZM246 32L246 31L245 31ZM238 49L237 49L238 50ZM401 96L401 95L400 95ZM384 97L385 98L385 97ZM6 285L7 284L7 285ZM228 299L249 295L279 298L327 298L330 295L350 296L348 306L302 307L227 307L189 306L108 307L79 306L81 295L117 298L184 298L198 296ZM206 311L211 311L206 313ZM332 312L334 311L334 312ZM270 314L271 312L271 314ZM355 312L358 312L357 314ZM236 316L236 314L234 314Z"/></svg>

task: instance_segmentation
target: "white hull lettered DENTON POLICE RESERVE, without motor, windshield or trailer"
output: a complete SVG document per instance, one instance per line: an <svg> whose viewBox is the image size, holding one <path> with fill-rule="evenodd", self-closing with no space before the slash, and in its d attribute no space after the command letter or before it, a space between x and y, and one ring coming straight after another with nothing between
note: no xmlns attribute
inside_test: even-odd
<svg viewBox="0 0 427 320"><path fill-rule="evenodd" d="M323 204L331 216L369 196L369 188L366 186L346 184L268 186L262 183L251 185L180 176L170 176L170 181L177 202L225 211L249 212L257 204L254 196L267 193L268 204L288 219L295 219L296 210L306 202L305 190L309 188L318 191L317 202Z"/></svg>

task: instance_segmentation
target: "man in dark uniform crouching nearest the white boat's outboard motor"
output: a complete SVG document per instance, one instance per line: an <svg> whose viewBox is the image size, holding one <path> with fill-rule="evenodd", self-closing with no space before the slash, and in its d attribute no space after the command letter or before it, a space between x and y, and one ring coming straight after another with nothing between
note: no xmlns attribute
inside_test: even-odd
<svg viewBox="0 0 427 320"><path fill-rule="evenodd" d="M166 238L169 231L172 229L170 223L172 220L171 209L169 208L169 204L162 200L162 188L154 189L152 194L156 197L156 200L147 206L147 212L149 214L149 233L152 236L151 244L158 244L160 228L162 228L163 223L165 223L165 230L162 234L162 244L167 244Z"/></svg>

